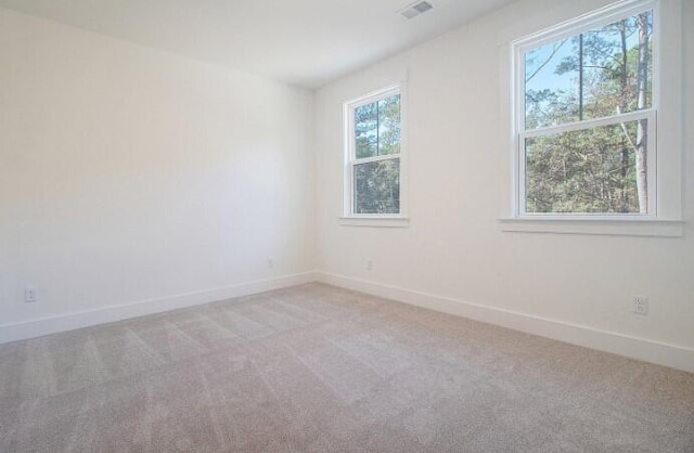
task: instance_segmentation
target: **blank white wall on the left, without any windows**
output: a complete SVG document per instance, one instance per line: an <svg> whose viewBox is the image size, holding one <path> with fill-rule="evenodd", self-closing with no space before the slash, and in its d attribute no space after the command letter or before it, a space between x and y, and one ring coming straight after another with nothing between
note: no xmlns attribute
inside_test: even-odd
<svg viewBox="0 0 694 453"><path fill-rule="evenodd" d="M1 9L0 68L0 339L313 269L311 92Z"/></svg>

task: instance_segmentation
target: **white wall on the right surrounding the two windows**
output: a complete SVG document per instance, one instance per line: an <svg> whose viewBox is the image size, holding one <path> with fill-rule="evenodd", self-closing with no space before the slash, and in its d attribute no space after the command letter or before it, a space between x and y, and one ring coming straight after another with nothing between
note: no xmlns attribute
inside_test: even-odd
<svg viewBox="0 0 694 453"><path fill-rule="evenodd" d="M500 49L514 34L606 3L519 1L321 89L316 146L323 280L425 306L438 301L452 312L694 371L694 2L683 2L684 237L511 233L497 220L504 215L510 157ZM410 226L340 225L342 103L404 70ZM632 295L650 297L648 316L631 313ZM617 345L622 340L628 345ZM638 351L643 345L651 353ZM678 359L663 357L668 353Z"/></svg>

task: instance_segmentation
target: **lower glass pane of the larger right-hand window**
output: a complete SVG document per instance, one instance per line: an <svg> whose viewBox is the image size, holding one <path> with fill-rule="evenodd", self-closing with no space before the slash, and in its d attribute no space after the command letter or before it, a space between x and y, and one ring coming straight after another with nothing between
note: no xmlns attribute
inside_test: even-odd
<svg viewBox="0 0 694 453"><path fill-rule="evenodd" d="M526 212L647 212L647 120L527 139Z"/></svg>

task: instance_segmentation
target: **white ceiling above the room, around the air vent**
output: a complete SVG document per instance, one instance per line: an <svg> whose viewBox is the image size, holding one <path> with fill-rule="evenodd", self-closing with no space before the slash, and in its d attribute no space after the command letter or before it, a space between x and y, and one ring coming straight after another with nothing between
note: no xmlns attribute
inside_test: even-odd
<svg viewBox="0 0 694 453"><path fill-rule="evenodd" d="M39 17L306 88L432 39L512 0L0 0Z"/></svg>

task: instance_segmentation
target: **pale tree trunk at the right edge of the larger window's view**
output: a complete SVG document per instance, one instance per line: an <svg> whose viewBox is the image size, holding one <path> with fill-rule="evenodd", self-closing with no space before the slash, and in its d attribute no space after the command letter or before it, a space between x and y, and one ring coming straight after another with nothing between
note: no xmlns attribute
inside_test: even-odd
<svg viewBox="0 0 694 453"><path fill-rule="evenodd" d="M639 60L637 62L637 108L646 106L646 86L648 77L648 23L645 13L639 14ZM648 180L647 180L647 141L648 121L640 119L637 124L637 190L639 193L639 212L648 212Z"/></svg>

